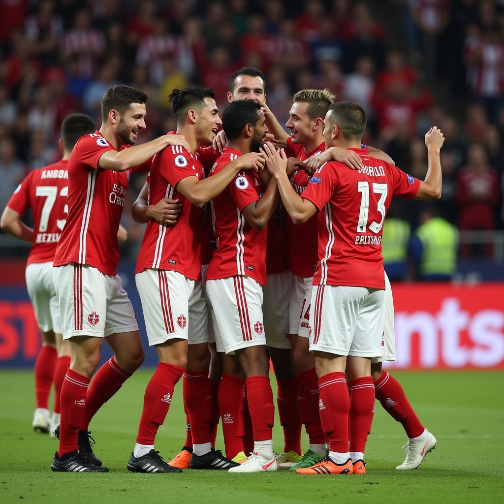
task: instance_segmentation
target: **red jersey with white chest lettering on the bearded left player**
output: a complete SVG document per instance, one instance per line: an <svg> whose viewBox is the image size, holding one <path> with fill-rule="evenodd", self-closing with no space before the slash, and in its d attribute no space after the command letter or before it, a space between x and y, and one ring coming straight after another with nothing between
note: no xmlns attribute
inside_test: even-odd
<svg viewBox="0 0 504 504"><path fill-rule="evenodd" d="M75 144L68 162L67 223L54 266L88 264L105 275L117 273L117 230L131 170L117 172L98 166L105 152L115 150L98 131Z"/></svg>

